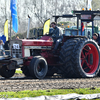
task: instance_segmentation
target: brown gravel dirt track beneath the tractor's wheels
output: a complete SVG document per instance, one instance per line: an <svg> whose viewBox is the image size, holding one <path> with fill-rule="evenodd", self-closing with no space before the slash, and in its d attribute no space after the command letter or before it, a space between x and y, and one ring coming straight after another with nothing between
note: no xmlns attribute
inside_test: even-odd
<svg viewBox="0 0 100 100"><path fill-rule="evenodd" d="M0 92L39 89L74 89L100 87L100 78L61 79L56 77L45 79L26 78L23 74L15 74L10 79L0 77Z"/></svg>

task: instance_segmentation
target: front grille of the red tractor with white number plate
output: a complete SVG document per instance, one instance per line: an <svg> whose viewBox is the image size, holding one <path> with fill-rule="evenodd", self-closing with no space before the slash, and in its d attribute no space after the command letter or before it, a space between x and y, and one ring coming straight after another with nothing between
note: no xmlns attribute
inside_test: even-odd
<svg viewBox="0 0 100 100"><path fill-rule="evenodd" d="M22 58L22 41L11 41L11 56L13 58Z"/></svg>

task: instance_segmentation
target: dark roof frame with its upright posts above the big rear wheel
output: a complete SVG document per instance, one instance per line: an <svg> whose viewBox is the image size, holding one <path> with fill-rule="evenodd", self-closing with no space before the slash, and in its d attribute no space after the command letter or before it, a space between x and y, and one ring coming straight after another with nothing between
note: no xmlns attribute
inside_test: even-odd
<svg viewBox="0 0 100 100"><path fill-rule="evenodd" d="M77 29L79 30L79 20L81 20L81 35L82 35L82 23L83 22L92 22L92 35L94 33L94 18L96 16L100 16L100 11L91 11L91 10L73 10L72 14L66 14L66 15L57 15L53 16L55 17L55 22L57 23L57 19L59 17L62 18L77 18Z"/></svg>

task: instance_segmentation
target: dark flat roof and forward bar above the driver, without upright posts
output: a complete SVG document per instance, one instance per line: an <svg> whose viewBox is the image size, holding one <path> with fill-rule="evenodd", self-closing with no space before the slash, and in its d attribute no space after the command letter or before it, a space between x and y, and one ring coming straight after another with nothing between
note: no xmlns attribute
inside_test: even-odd
<svg viewBox="0 0 100 100"><path fill-rule="evenodd" d="M100 11L91 11L91 10L73 10L73 14L65 14L65 15L54 15L55 22L59 17L62 18L73 18L77 17L83 21L93 21L95 16L100 16Z"/></svg>

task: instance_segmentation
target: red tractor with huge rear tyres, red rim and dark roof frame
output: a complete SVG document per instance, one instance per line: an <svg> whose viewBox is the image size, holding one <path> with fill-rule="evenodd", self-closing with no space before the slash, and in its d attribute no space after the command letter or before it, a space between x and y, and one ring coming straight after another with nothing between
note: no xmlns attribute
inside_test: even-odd
<svg viewBox="0 0 100 100"><path fill-rule="evenodd" d="M93 23L94 17L100 13L100 11L73 12L74 15L54 16L55 21L59 17L77 17L78 28L79 20L81 23ZM95 77L99 73L99 46L93 39L82 35L63 35L56 54L52 53L53 48L53 39L50 36L33 40L12 40L11 57L0 61L1 76L12 77L17 68L21 68L25 76L38 79L54 73L61 74L65 78Z"/></svg>

